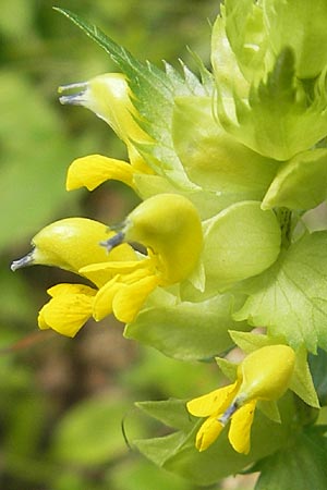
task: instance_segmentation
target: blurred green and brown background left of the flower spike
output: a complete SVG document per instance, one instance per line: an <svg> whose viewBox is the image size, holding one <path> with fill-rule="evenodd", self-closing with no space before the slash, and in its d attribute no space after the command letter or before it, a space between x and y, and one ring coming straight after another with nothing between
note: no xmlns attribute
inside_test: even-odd
<svg viewBox="0 0 327 490"><path fill-rule="evenodd" d="M65 0L140 59L209 64L215 0ZM31 237L69 216L119 222L137 203L119 183L66 193L70 162L100 152L124 158L111 130L57 88L116 71L108 56L47 0L2 0L0 15L0 488L3 490L195 490L131 451L124 440L160 436L133 402L192 397L217 370L168 359L122 338L111 319L74 340L37 329L46 290L71 280L35 267L10 271ZM245 483L241 488L245 489ZM218 487L217 487L218 488ZM219 487L220 488L220 487ZM227 487L226 487L227 488ZM229 486L228 488L237 488Z"/></svg>

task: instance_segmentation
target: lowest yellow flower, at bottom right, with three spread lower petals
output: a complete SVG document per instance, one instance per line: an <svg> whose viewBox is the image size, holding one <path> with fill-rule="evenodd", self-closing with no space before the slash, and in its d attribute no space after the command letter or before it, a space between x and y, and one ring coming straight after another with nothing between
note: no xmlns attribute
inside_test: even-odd
<svg viewBox="0 0 327 490"><path fill-rule="evenodd" d="M251 426L258 401L276 401L289 387L295 363L287 345L268 345L249 354L238 367L234 383L187 403L196 417L208 417L196 434L196 449L205 451L230 420L229 441L239 453L250 452Z"/></svg>

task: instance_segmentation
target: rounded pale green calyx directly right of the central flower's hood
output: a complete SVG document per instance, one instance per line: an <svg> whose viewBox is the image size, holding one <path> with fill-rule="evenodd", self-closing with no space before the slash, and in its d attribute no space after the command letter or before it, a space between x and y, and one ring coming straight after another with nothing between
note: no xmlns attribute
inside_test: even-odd
<svg viewBox="0 0 327 490"><path fill-rule="evenodd" d="M279 249L280 226L274 212L263 211L257 201L228 207L206 222L206 286L221 290L263 272L275 262Z"/></svg>

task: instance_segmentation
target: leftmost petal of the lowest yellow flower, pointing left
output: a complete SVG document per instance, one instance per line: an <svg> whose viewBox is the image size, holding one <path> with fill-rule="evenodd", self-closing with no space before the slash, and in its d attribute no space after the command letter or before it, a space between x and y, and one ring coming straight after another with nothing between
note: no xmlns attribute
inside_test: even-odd
<svg viewBox="0 0 327 490"><path fill-rule="evenodd" d="M222 414L232 403L238 384L239 381L237 380L233 384L218 388L218 390L191 400L186 405L187 411L190 414L195 415L195 417L208 417L214 414L218 416L218 414Z"/></svg>

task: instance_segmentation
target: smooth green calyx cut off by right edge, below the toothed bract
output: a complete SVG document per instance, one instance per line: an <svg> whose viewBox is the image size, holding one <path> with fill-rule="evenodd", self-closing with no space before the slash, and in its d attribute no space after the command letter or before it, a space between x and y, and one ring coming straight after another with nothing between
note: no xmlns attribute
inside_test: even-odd
<svg viewBox="0 0 327 490"><path fill-rule="evenodd" d="M327 150L295 155L283 163L265 195L263 209L312 209L327 198Z"/></svg>

